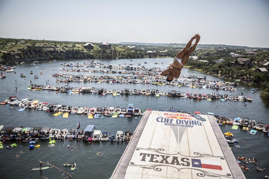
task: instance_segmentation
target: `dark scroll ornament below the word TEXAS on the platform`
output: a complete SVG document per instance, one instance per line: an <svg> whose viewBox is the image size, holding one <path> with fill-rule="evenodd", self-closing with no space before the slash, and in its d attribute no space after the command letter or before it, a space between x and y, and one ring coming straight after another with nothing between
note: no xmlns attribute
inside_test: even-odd
<svg viewBox="0 0 269 179"><path fill-rule="evenodd" d="M161 166L169 166L169 165L136 165L134 162L130 162L129 165L130 166L139 166L139 167L144 168L144 169L153 169L153 170L155 170L157 172L162 171L162 169L160 168ZM178 169L175 166L169 166L169 167L175 168L176 171L174 171L174 172L181 172L181 170L183 170L183 169L197 170L199 172L196 173L196 175L199 176L199 177L208 176L208 177L233 178L233 176L230 173L227 173L226 175L220 175L220 174L213 173L213 172L207 172L207 171L204 171L204 170L201 170L201 169L192 169L192 168L181 168L181 169Z"/></svg>

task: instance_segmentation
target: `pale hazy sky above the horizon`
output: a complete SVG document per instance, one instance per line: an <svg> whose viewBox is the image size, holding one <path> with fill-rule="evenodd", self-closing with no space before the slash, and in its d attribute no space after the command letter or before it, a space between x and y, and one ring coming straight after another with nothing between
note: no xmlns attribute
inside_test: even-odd
<svg viewBox="0 0 269 179"><path fill-rule="evenodd" d="M0 37L269 47L269 0L0 0Z"/></svg>

